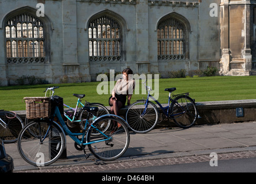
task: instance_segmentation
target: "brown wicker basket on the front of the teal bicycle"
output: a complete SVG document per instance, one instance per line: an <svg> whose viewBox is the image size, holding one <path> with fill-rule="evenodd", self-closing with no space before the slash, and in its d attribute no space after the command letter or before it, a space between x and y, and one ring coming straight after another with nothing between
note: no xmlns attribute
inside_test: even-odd
<svg viewBox="0 0 256 184"><path fill-rule="evenodd" d="M49 97L24 97L23 99L25 99L28 119L50 117L51 100Z"/></svg>

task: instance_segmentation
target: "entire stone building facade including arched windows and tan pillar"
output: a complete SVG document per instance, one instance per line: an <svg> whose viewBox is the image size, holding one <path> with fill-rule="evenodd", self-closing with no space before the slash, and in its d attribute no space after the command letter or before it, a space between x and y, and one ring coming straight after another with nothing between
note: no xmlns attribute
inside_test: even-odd
<svg viewBox="0 0 256 184"><path fill-rule="evenodd" d="M254 75L255 0L2 0L0 79L96 81L132 68Z"/></svg>

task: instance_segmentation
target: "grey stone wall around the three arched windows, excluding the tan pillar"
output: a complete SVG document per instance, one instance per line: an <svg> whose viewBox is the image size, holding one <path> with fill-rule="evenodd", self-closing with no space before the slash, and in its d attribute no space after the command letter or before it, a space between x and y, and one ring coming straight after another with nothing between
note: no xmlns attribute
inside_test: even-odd
<svg viewBox="0 0 256 184"><path fill-rule="evenodd" d="M7 64L5 22L20 13L34 16L43 3L46 26L46 62L44 64ZM138 74L161 74L171 70L219 68L220 36L218 17L210 17L210 3L220 0L114 1L114 0L47 0L0 2L0 69L1 85L13 85L23 75L38 76L49 83L59 83L64 75L69 82L95 81L97 74L110 69L122 71L130 67ZM107 15L121 24L121 61L89 61L88 23L92 18ZM161 18L172 15L186 22L185 59L159 60L157 25ZM74 80L76 78L77 80Z"/></svg>

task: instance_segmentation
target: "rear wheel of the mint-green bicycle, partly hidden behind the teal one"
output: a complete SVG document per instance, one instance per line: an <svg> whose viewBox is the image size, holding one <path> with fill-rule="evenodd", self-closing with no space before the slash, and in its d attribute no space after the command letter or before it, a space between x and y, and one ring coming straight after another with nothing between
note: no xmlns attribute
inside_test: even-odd
<svg viewBox="0 0 256 184"><path fill-rule="evenodd" d="M107 110L107 108L101 104L92 103L88 106L99 108L98 112L92 113L96 117L100 117L105 114L109 114L109 111ZM87 119L87 116L88 116L88 112L86 110L81 110L80 115L79 115L79 120L85 120L85 119ZM92 115L90 115L88 118L92 118ZM79 124L80 124L80 128L83 130L84 126L85 126L85 122L80 121ZM107 130L107 128L109 128L109 125L110 125L110 121L102 121L102 124L100 125L99 128L101 128L100 130L102 132L105 132ZM92 135L99 135L99 133L95 131L95 132L92 132Z"/></svg>

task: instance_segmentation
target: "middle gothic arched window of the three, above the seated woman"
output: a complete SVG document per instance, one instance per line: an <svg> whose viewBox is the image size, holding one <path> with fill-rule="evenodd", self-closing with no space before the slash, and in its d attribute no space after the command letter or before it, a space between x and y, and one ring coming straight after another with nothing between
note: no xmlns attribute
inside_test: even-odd
<svg viewBox="0 0 256 184"><path fill-rule="evenodd" d="M102 16L88 26L90 61L121 59L121 27L113 18Z"/></svg>

